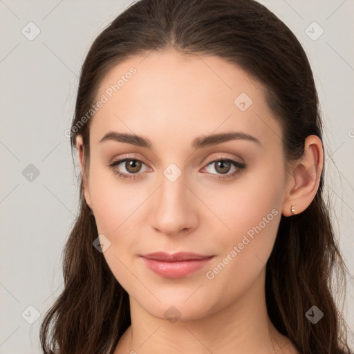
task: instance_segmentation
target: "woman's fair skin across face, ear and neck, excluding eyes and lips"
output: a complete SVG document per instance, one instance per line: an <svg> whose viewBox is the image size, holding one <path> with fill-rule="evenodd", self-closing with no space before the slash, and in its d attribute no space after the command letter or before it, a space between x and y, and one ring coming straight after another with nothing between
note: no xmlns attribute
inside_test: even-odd
<svg viewBox="0 0 354 354"><path fill-rule="evenodd" d="M263 87L215 56L166 50L131 57L104 77L97 97L131 66L137 73L91 118L89 170L84 170L82 138L77 137L86 203L98 234L111 242L103 255L129 293L132 325L114 353L297 353L268 317L265 263L281 214L291 216L291 205L298 214L315 197L323 167L321 140L308 136L304 157L287 173L281 129ZM234 104L242 92L253 101L246 111ZM153 147L100 143L111 130L145 136ZM228 131L248 133L261 147L248 140L198 150L191 146L198 136ZM109 167L124 154L144 162L138 178L124 180ZM247 167L218 180L222 170L210 162L220 158ZM163 174L171 163L181 171L174 182ZM124 162L119 166L115 169L134 174ZM232 174L236 168L224 171ZM277 215L214 279L207 279L206 272L272 209ZM169 279L138 257L160 250L215 257L187 277ZM173 323L164 315L170 306L180 313Z"/></svg>

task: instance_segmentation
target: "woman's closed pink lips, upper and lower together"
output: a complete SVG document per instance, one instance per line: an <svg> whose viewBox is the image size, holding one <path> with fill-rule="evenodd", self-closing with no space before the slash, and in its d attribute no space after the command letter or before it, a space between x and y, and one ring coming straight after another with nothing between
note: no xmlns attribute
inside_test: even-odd
<svg viewBox="0 0 354 354"><path fill-rule="evenodd" d="M192 252L168 254L154 252L140 256L142 261L156 274L165 278L183 278L203 268L214 255L202 255Z"/></svg>

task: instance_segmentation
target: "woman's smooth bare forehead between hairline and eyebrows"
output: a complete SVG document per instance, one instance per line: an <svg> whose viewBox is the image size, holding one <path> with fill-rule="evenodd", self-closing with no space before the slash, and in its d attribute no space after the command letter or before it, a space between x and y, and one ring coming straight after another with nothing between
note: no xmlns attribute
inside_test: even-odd
<svg viewBox="0 0 354 354"><path fill-rule="evenodd" d="M243 131L263 142L281 136L263 87L216 56L152 51L114 66L100 84L104 101L91 122L90 140L109 130L190 142L214 131Z"/></svg>

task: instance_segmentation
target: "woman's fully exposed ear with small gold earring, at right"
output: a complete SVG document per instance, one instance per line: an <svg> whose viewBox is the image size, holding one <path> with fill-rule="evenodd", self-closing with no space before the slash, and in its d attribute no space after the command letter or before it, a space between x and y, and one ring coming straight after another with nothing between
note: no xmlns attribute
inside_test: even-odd
<svg viewBox="0 0 354 354"><path fill-rule="evenodd" d="M318 136L308 136L305 140L304 156L292 164L284 194L282 213L292 216L303 212L313 201L319 187L324 165L322 141Z"/></svg>

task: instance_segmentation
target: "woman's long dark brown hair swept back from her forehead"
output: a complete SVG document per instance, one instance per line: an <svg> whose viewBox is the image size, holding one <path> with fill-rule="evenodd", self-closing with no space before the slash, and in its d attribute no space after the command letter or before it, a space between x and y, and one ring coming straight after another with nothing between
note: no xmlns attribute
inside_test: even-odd
<svg viewBox="0 0 354 354"><path fill-rule="evenodd" d="M253 0L141 0L102 31L82 66L71 152L80 134L86 173L92 120L86 113L97 100L100 82L123 60L168 48L187 55L216 55L261 82L281 124L287 162L303 156L307 136L322 140L317 91L306 54L270 10ZM265 297L272 323L300 353L351 353L334 297L345 292L346 266L323 189L324 170L308 208L281 216L266 265ZM46 354L112 353L131 324L129 296L93 247L97 227L83 191L81 175L80 214L63 253L64 290L41 323L41 348ZM305 315L314 305L324 313L317 324Z"/></svg>

